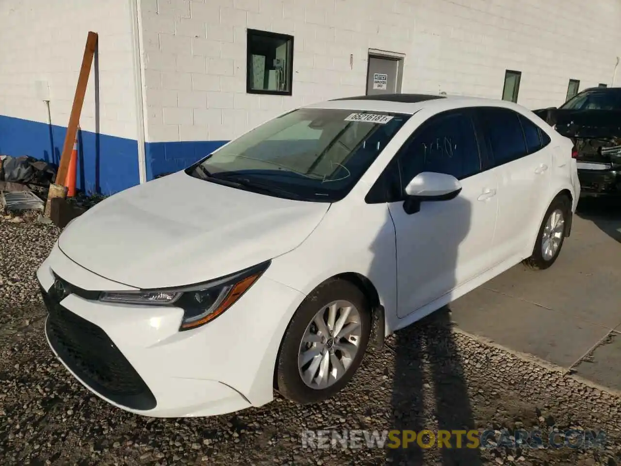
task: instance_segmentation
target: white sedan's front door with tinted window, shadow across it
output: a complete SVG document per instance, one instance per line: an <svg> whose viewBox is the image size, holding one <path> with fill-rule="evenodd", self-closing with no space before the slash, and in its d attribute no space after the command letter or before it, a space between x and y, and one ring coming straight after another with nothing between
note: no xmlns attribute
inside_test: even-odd
<svg viewBox="0 0 621 466"><path fill-rule="evenodd" d="M397 180L389 202L396 232L397 314L407 316L490 267L497 211L497 181L484 169L469 110L428 119L399 150L388 173ZM423 171L453 175L456 198L404 209L404 189Z"/></svg>

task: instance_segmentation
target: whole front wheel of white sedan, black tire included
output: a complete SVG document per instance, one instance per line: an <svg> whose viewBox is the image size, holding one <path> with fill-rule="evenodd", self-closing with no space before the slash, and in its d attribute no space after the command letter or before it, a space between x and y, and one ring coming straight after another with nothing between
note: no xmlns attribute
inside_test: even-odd
<svg viewBox="0 0 621 466"><path fill-rule="evenodd" d="M353 306L349 311L347 311L347 303ZM330 330L330 304L333 304L332 308L335 309L333 329L338 329L338 318L347 314L342 329L353 331L350 339L337 340L332 338L331 334L324 335L319 328L315 318L322 312L324 324L327 327L324 327L324 330ZM359 326L356 326L356 321L360 324ZM302 301L289 322L276 360L276 390L284 398L299 404L319 403L332 397L347 385L360 366L370 333L371 307L360 288L347 280L326 281ZM320 341L321 336L324 336L323 342ZM313 342L303 343L303 337L307 337L307 340L312 339ZM355 339L355 343L352 339ZM349 345L345 345L347 343ZM355 352L351 345L357 348ZM328 349L327 356L322 355L320 352L322 349ZM348 355L351 357L348 358ZM302 364L310 357L312 359ZM325 359L328 362L325 362ZM343 370L340 374L335 372L337 368L335 362L340 363L339 368ZM328 371L325 371L325 364L328 365ZM309 385L307 381L312 373L315 377L312 377ZM320 377L325 373L328 373L327 381ZM306 375L307 381L304 381L302 374ZM334 377L334 374L338 377ZM320 385L320 383L327 385Z"/></svg>

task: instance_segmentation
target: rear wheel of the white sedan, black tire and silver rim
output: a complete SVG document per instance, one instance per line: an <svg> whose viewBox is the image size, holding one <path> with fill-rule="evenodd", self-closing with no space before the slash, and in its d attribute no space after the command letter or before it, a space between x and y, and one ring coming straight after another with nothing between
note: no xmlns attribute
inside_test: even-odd
<svg viewBox="0 0 621 466"><path fill-rule="evenodd" d="M543 270L555 263L561 252L571 216L570 201L565 196L554 199L543 217L533 254L525 264Z"/></svg>

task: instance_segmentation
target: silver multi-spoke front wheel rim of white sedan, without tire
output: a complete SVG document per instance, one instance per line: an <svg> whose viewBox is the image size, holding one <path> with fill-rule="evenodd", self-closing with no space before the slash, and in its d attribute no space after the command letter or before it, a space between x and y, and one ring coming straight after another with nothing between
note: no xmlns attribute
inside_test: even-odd
<svg viewBox="0 0 621 466"><path fill-rule="evenodd" d="M349 301L321 308L306 327L297 356L300 377L315 390L329 387L345 375L358 354L360 312Z"/></svg>

